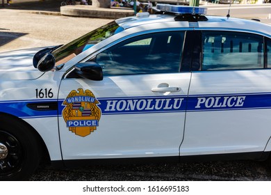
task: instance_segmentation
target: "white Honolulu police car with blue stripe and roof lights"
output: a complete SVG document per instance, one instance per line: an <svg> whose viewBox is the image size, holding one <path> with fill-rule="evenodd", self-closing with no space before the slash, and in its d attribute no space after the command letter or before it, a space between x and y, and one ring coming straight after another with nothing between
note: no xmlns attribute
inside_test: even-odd
<svg viewBox="0 0 271 195"><path fill-rule="evenodd" d="M271 26L157 8L1 53L1 180L48 162L269 158Z"/></svg>

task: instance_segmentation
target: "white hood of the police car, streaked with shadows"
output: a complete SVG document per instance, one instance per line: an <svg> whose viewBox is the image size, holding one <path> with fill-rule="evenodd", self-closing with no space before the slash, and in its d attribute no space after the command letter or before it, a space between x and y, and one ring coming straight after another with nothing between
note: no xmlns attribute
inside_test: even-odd
<svg viewBox="0 0 271 195"><path fill-rule="evenodd" d="M44 72L33 67L33 56L42 48L0 53L0 79L37 79Z"/></svg>

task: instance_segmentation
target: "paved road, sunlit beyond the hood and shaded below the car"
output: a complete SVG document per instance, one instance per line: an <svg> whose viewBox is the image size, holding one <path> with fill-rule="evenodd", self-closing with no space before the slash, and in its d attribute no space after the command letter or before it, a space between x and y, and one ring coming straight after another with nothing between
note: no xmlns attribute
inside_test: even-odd
<svg viewBox="0 0 271 195"><path fill-rule="evenodd" d="M111 21L3 8L0 18L0 52L65 44ZM36 171L31 180L271 180L270 167L263 162L231 161L45 168Z"/></svg>

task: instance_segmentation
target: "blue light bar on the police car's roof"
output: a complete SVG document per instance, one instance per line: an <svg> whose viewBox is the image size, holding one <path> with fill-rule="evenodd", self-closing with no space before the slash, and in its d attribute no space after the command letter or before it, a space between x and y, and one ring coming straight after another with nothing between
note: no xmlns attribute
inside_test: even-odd
<svg viewBox="0 0 271 195"><path fill-rule="evenodd" d="M158 10L168 12L168 13L178 13L178 14L206 14L207 8L199 8L194 6L174 6L170 4L157 4L156 8Z"/></svg>

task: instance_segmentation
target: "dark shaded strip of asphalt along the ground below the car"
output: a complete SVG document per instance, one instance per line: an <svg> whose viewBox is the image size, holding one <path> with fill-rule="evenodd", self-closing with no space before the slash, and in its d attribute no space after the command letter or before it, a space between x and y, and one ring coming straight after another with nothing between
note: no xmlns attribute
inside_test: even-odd
<svg viewBox="0 0 271 195"><path fill-rule="evenodd" d="M270 181L271 166L265 162L193 162L179 164L129 164L88 166L81 169L39 169L31 180L52 181L156 181L226 180Z"/></svg>

